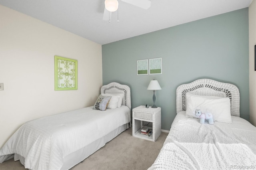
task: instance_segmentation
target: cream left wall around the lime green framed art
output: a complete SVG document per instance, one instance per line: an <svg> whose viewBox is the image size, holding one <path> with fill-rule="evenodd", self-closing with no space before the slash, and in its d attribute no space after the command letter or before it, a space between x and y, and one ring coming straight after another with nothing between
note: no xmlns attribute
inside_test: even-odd
<svg viewBox="0 0 256 170"><path fill-rule="evenodd" d="M54 55L78 60L78 90L54 91ZM93 105L101 45L0 5L0 147L25 122Z"/></svg>

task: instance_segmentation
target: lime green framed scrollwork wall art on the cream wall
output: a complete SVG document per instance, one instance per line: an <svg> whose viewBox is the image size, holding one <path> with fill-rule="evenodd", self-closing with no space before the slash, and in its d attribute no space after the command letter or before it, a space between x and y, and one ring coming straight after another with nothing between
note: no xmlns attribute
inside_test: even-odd
<svg viewBox="0 0 256 170"><path fill-rule="evenodd" d="M77 60L54 55L54 90L77 90Z"/></svg>

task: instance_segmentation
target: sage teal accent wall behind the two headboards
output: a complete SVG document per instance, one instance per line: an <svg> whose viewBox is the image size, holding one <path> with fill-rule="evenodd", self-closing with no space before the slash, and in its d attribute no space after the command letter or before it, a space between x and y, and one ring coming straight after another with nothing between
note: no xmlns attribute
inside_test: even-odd
<svg viewBox="0 0 256 170"><path fill-rule="evenodd" d="M172 16L175 17L175 16ZM134 26L136 29L136 26ZM240 114L249 119L248 8L102 45L103 84L131 89L132 108L153 105L150 80L158 80L156 106L162 129L176 116L176 88L196 79L232 83L240 90ZM162 57L162 74L137 75L136 61Z"/></svg>

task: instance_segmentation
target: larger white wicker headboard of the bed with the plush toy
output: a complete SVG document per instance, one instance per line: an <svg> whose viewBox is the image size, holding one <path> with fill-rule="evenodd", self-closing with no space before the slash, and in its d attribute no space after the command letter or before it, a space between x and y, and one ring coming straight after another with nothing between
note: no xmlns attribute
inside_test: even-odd
<svg viewBox="0 0 256 170"><path fill-rule="evenodd" d="M192 83L180 85L176 90L176 112L186 111L186 93L201 96L229 97L231 115L240 116L240 95L235 85L211 79L198 79Z"/></svg>

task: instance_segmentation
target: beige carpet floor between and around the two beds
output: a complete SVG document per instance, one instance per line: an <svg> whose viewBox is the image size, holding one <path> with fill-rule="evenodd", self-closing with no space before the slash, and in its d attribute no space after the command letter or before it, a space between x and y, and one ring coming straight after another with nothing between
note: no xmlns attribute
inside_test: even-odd
<svg viewBox="0 0 256 170"><path fill-rule="evenodd" d="M156 142L151 142L133 137L129 128L72 170L146 170L154 163L167 135L162 132ZM0 164L0 170L24 169L13 159Z"/></svg>

